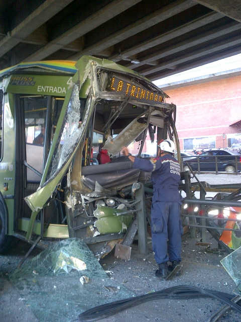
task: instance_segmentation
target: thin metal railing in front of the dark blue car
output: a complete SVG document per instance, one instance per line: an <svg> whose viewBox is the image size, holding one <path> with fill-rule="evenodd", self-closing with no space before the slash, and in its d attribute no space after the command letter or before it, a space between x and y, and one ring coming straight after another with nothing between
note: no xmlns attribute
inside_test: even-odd
<svg viewBox="0 0 241 322"><path fill-rule="evenodd" d="M190 157L181 156L182 159L182 171L184 170L185 164L188 163L192 169L194 168L192 163L195 163L195 171L198 174L202 173L225 173L225 174L241 174L241 155L207 155L207 156L200 156L200 155L193 155ZM234 172L226 172L220 171L221 164L227 164L227 166L232 166ZM213 171L205 170L208 169L208 164L213 164ZM210 168L209 168L210 169Z"/></svg>

